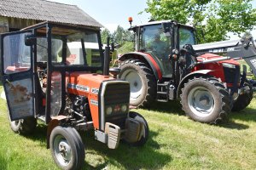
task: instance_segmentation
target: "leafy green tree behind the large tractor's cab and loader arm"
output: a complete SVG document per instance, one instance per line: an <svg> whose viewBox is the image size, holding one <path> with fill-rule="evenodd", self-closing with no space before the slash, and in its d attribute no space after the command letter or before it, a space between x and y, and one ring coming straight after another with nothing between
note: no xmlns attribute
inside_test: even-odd
<svg viewBox="0 0 256 170"><path fill-rule="evenodd" d="M256 9L252 0L148 0L146 12L154 20L177 20L204 30L205 40L228 39L228 32L238 36L256 25Z"/></svg>

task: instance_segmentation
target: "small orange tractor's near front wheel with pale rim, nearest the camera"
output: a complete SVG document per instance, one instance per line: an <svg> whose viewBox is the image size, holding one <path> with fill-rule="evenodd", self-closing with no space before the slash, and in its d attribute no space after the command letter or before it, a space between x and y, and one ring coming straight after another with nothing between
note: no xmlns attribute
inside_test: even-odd
<svg viewBox="0 0 256 170"><path fill-rule="evenodd" d="M55 163L61 169L80 169L84 163L83 146L70 127L55 127L50 133L49 147ZM82 149L82 150L81 150Z"/></svg>

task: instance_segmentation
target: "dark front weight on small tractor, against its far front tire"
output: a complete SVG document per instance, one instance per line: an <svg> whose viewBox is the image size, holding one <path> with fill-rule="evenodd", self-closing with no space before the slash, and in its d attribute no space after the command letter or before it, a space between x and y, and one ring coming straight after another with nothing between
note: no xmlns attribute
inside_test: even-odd
<svg viewBox="0 0 256 170"><path fill-rule="evenodd" d="M134 143L139 140L142 125L135 119L127 118L125 121L125 140Z"/></svg>

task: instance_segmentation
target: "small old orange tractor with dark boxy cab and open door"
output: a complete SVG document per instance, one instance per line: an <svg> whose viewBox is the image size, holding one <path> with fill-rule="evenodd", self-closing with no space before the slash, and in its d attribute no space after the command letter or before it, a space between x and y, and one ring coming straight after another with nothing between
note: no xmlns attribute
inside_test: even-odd
<svg viewBox="0 0 256 170"><path fill-rule="evenodd" d="M148 123L129 111L130 85L109 77L109 41L100 28L43 22L1 34L1 77L10 127L31 133L37 119L47 127L47 147L62 169L79 169L84 144L77 130L117 148L120 139L143 145ZM86 53L86 42L98 51Z"/></svg>

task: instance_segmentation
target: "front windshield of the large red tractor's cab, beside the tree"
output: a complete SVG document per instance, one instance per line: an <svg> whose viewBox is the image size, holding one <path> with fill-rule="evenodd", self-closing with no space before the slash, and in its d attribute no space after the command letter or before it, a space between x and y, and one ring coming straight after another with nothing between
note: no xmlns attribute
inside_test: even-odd
<svg viewBox="0 0 256 170"><path fill-rule="evenodd" d="M195 45L195 37L192 30L187 28L179 29L179 48L183 48L184 45L191 44Z"/></svg>

